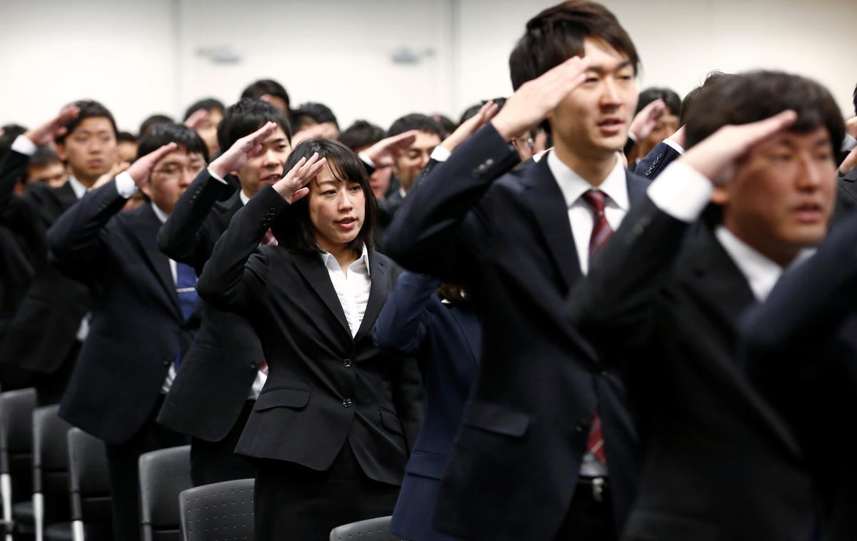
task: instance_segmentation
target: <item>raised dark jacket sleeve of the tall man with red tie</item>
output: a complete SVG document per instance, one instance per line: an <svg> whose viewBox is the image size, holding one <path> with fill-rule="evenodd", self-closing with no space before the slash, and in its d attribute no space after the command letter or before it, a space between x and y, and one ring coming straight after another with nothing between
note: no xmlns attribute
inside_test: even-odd
<svg viewBox="0 0 857 541"><path fill-rule="evenodd" d="M493 181L519 161L518 152L491 124L482 127L411 189L387 230L387 255L411 270L464 282L459 269L466 265L461 260L466 251L458 238L459 226L473 214ZM488 217L470 217L476 227L491 230ZM472 235L476 236L480 235ZM474 247L483 238L470 241Z"/></svg>

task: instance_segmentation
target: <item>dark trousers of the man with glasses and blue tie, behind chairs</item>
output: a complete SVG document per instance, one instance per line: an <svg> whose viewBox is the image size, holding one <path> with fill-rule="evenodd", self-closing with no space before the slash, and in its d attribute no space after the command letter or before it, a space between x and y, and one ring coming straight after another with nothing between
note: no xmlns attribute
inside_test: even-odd
<svg viewBox="0 0 857 541"><path fill-rule="evenodd" d="M163 403L162 395L146 422L128 442L120 445L105 443L113 496L113 537L117 540L138 541L141 538L140 471L137 466L140 455L187 443L187 438L182 434L155 422Z"/></svg>

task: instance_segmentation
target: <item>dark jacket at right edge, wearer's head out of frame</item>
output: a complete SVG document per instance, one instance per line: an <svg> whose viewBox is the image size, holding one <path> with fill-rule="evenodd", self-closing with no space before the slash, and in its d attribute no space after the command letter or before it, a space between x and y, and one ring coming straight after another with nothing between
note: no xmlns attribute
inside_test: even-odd
<svg viewBox="0 0 857 541"><path fill-rule="evenodd" d="M789 270L741 330L747 370L787 419L824 496L830 539L857 538L857 216Z"/></svg>

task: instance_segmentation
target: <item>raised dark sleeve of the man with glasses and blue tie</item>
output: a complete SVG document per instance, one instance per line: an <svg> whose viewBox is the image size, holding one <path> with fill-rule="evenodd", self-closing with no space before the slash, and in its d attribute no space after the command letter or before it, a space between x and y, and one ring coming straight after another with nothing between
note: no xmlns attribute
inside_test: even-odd
<svg viewBox="0 0 857 541"><path fill-rule="evenodd" d="M126 200L117 192L113 179L87 193L48 229L48 248L64 270L77 276L81 266L92 265L99 259L103 248L100 235Z"/></svg>

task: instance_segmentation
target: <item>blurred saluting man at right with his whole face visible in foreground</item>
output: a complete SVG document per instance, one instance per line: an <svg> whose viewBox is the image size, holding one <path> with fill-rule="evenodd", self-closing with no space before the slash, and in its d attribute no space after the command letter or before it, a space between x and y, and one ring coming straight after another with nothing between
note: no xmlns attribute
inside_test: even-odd
<svg viewBox="0 0 857 541"><path fill-rule="evenodd" d="M746 378L738 323L824 237L842 117L823 87L777 72L718 80L697 106L689 150L596 259L570 322L626 367L639 405L626 539L805 541L806 457Z"/></svg>

